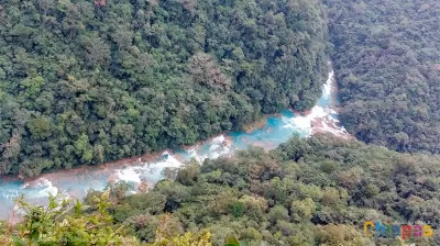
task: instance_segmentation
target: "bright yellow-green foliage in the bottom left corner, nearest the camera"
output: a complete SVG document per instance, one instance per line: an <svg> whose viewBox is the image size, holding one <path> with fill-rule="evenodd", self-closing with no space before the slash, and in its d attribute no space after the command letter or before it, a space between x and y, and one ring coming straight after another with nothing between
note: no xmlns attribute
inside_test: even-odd
<svg viewBox="0 0 440 246"><path fill-rule="evenodd" d="M21 198L16 201L24 221L16 230L7 227L0 236L2 245L139 245L123 235L123 226L114 227L107 212L109 192L94 197L96 212L84 213L87 206L61 197L50 197L47 208L34 206Z"/></svg>

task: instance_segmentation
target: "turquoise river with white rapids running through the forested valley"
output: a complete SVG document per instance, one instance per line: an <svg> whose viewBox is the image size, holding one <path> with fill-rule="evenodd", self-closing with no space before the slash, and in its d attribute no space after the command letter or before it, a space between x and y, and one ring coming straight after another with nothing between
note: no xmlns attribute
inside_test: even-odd
<svg viewBox="0 0 440 246"><path fill-rule="evenodd" d="M50 193L63 193L66 197L81 199L89 189L103 190L108 181L125 180L138 187L141 182L152 187L163 178L165 167L177 168L190 158L202 161L206 158L229 156L249 145L261 146L267 150L276 148L289 139L293 134L308 137L317 132L330 132L344 138L351 138L339 125L337 105L337 85L333 71L329 72L322 87L322 96L314 109L306 115L284 110L278 116L268 116L266 125L251 133L231 132L185 149L166 150L130 161L118 161L98 167L82 167L42 175L33 180L11 178L0 179L0 219L13 220L13 199L25 195L35 204L45 204Z"/></svg>

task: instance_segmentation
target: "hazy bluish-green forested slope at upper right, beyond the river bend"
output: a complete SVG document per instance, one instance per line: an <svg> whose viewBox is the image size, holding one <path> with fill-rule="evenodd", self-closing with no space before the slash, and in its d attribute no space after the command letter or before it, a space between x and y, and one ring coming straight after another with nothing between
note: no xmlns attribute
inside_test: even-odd
<svg viewBox="0 0 440 246"><path fill-rule="evenodd" d="M440 1L324 2L348 131L398 152L440 153Z"/></svg>

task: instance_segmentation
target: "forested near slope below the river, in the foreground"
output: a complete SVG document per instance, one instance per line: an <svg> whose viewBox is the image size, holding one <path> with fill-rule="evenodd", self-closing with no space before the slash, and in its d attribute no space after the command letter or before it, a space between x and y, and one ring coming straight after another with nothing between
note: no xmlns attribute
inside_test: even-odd
<svg viewBox="0 0 440 246"><path fill-rule="evenodd" d="M207 159L201 166L189 161L147 193L125 197L132 189L130 183L110 183L106 192L90 191L85 204L74 203L70 212L53 205L52 212L31 213L34 216L20 225L22 237L18 231L0 226L0 239L8 242L15 235L22 239L34 236L35 242L80 242L94 234L84 226L75 228L84 224L107 235L105 238L135 238L145 245L191 245L166 244L176 238L185 242L184 237L223 245L230 236L258 246L258 242L289 246L439 245L438 177L439 156L399 154L330 135L293 137L270 153L251 148L231 159ZM80 211L96 220L87 222ZM59 223L54 225L53 220ZM402 236L364 235L366 221L385 224L388 220L397 225L430 225L433 235L407 237L405 244ZM37 228L34 222L38 222ZM32 230L36 232L29 233ZM165 243L160 244L162 241Z"/></svg>

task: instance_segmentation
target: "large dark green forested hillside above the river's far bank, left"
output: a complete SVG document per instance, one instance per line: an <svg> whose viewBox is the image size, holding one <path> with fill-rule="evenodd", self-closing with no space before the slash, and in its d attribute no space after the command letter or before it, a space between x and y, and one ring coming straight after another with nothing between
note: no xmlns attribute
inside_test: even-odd
<svg viewBox="0 0 440 246"><path fill-rule="evenodd" d="M327 70L318 0L0 2L0 175L190 145L283 108Z"/></svg>

